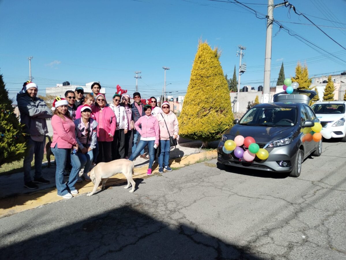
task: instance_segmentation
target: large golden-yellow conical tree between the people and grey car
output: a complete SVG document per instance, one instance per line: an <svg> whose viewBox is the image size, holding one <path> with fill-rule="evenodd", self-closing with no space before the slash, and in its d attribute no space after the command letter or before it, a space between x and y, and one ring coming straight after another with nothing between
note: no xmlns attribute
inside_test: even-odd
<svg viewBox="0 0 346 260"><path fill-rule="evenodd" d="M179 134L193 140L208 141L221 137L233 125L227 82L217 48L199 42L191 78L179 116ZM217 98L210 98L215 95Z"/></svg>

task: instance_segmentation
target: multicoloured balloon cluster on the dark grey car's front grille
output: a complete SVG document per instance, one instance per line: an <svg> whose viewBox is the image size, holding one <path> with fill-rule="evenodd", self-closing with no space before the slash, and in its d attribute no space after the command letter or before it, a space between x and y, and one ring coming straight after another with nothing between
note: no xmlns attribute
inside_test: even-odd
<svg viewBox="0 0 346 260"><path fill-rule="evenodd" d="M256 155L261 160L266 160L269 157L268 151L260 148L251 136L244 138L242 135L237 135L234 141L227 140L224 147L222 147L222 151L226 154L233 152L235 157L243 158L247 162L253 161Z"/></svg>

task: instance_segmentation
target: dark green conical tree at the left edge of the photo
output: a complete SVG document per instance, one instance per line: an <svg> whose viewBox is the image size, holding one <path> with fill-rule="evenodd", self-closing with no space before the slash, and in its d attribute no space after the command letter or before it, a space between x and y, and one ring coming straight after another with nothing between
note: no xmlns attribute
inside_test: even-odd
<svg viewBox="0 0 346 260"><path fill-rule="evenodd" d="M0 166L24 156L26 145L22 129L0 74Z"/></svg>

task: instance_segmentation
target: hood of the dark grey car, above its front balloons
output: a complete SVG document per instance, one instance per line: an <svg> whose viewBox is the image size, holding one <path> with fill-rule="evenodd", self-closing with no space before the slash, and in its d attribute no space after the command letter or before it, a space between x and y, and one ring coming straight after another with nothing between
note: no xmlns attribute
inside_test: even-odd
<svg viewBox="0 0 346 260"><path fill-rule="evenodd" d="M229 128L224 134L232 136L233 138L231 139L234 139L237 135L242 135L244 137L253 137L256 143L269 143L287 137L294 131L294 128L294 126L270 127L236 124L232 128Z"/></svg>

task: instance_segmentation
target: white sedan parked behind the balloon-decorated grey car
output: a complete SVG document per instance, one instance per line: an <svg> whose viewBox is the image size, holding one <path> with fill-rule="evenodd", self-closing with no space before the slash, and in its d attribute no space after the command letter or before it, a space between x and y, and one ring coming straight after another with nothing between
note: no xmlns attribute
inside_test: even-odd
<svg viewBox="0 0 346 260"><path fill-rule="evenodd" d="M346 101L316 102L311 108L332 138L342 138L342 142L346 142Z"/></svg>

